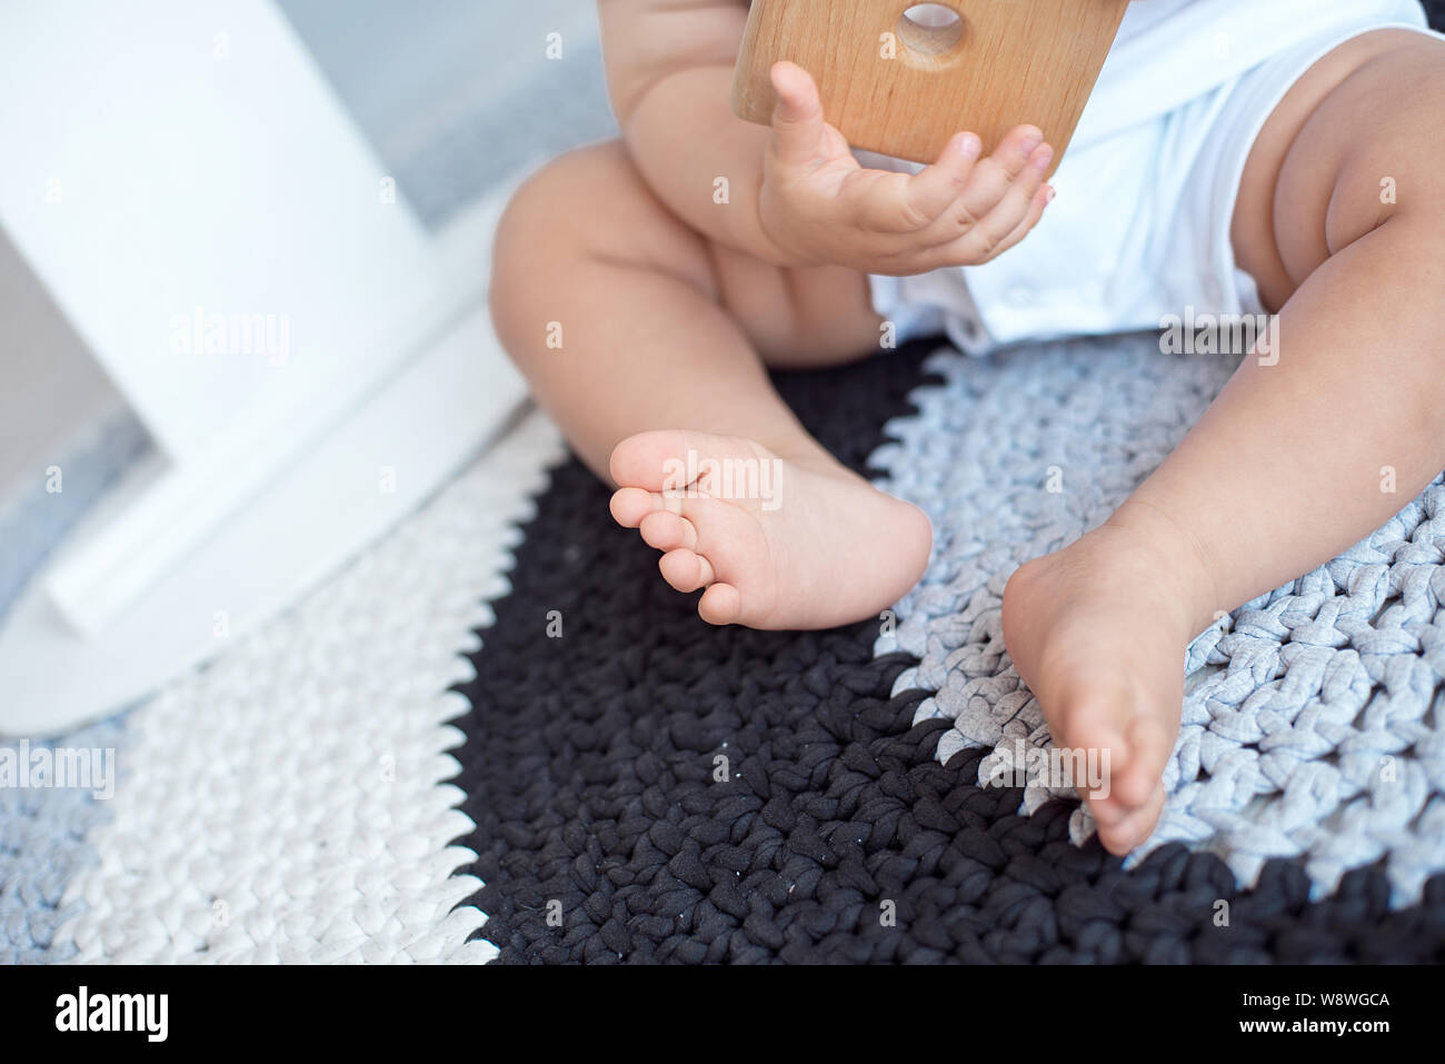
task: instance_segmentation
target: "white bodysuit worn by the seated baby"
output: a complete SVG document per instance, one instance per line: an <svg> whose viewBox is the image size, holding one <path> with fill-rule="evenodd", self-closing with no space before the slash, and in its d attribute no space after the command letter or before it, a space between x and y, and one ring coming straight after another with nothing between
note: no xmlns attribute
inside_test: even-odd
<svg viewBox="0 0 1445 1064"><path fill-rule="evenodd" d="M970 353L1257 312L1230 244L1250 147L1315 61L1384 26L1429 32L1418 0L1137 0L1033 233L983 266L874 276L874 308L905 338L944 330Z"/></svg>

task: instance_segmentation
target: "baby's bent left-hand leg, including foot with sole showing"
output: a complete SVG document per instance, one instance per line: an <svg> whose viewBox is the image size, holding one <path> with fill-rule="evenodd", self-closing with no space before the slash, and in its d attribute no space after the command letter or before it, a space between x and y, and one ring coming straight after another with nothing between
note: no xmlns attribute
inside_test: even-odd
<svg viewBox="0 0 1445 1064"><path fill-rule="evenodd" d="M708 241L611 143L517 194L491 305L540 403L618 487L613 516L665 551L669 584L708 588L704 620L829 627L918 581L928 519L829 455L764 370L877 350L863 275L783 270Z"/></svg>

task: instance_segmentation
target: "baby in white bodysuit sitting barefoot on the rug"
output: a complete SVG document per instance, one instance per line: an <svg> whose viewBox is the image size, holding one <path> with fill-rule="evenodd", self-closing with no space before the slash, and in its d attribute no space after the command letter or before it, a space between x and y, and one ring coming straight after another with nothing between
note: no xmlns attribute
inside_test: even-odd
<svg viewBox="0 0 1445 1064"><path fill-rule="evenodd" d="M929 558L922 512L814 441L769 367L855 360L894 331L981 353L1279 315L1139 490L1004 591L1055 743L1108 752L1107 797L1087 799L1129 851L1163 805L1189 640L1445 467L1445 43L1416 0L1131 4L1053 202L1039 129L987 155L959 130L925 168L860 162L792 64L772 71L772 129L740 121L747 0L600 12L621 139L517 192L493 315L616 486L613 516L672 587L702 590L709 623L876 617ZM724 470L766 476L738 490Z"/></svg>

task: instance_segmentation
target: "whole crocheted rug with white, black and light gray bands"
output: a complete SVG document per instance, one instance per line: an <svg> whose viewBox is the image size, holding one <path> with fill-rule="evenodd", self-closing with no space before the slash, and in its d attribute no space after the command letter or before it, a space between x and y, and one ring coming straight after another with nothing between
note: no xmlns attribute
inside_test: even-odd
<svg viewBox="0 0 1445 1064"><path fill-rule="evenodd" d="M1045 739L997 593L1231 363L931 351L780 379L935 522L894 616L702 625L581 466L548 481L533 415L301 607L61 740L117 752L113 798L0 788L0 960L1445 958L1442 486L1194 643L1169 805L1121 862L1072 797L985 784Z"/></svg>

